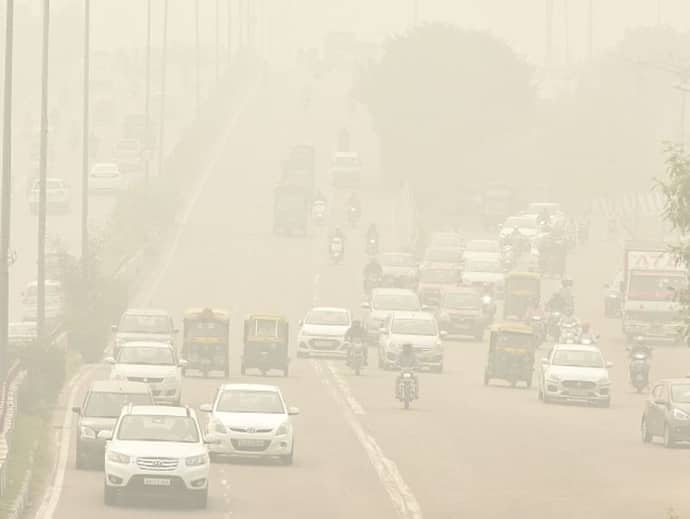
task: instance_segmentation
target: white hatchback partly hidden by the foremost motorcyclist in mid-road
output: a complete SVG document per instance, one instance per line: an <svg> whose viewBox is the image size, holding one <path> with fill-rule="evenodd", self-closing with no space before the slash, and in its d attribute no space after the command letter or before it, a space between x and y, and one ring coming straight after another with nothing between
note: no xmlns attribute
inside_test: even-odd
<svg viewBox="0 0 690 519"><path fill-rule="evenodd" d="M427 312L395 312L381 327L379 367L397 367L403 344L411 344L420 367L443 371L445 331L439 331L436 318Z"/></svg>

